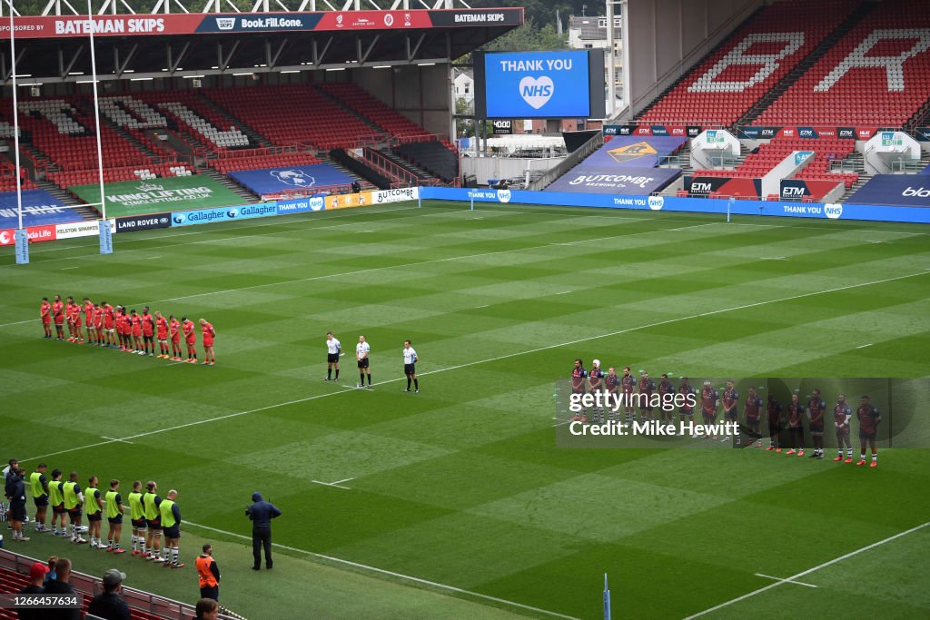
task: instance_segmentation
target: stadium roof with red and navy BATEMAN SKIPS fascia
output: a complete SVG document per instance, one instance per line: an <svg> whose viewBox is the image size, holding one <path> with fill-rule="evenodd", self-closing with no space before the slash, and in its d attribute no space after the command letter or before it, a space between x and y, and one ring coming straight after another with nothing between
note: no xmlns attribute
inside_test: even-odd
<svg viewBox="0 0 930 620"><path fill-rule="evenodd" d="M205 9L215 6L210 2ZM21 16L14 22L21 86L90 79L86 16ZM523 22L522 7L259 10L108 13L94 17L93 30L100 80L148 80L445 62ZM0 40L9 40L7 18L0 20ZM11 78L10 59L8 44L0 44L4 85Z"/></svg>

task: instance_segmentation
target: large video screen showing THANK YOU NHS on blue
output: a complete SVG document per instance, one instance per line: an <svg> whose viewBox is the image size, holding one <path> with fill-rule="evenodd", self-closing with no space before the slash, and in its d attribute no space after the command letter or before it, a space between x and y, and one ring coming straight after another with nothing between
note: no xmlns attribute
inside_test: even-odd
<svg viewBox="0 0 930 620"><path fill-rule="evenodd" d="M591 76L603 82L604 69L603 57L596 71L590 59L589 50L478 55L476 111L485 118L591 118L591 91L603 90L592 87Z"/></svg>

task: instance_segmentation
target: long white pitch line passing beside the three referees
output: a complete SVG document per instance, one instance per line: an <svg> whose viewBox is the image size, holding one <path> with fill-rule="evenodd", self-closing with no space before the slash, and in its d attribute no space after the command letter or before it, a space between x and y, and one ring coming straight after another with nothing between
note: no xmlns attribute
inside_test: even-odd
<svg viewBox="0 0 930 620"><path fill-rule="evenodd" d="M619 336L621 334L629 334L630 332L635 332L635 331L639 331L643 329L651 329L653 327L658 327L660 325L680 323L682 321L690 321L691 319L700 319L706 316L715 316L717 314L723 314L724 312L733 312L736 310L747 310L749 308L758 308L759 306L767 306L769 304L777 304L777 303L781 303L784 301L793 301L794 299L804 299L805 297L814 297L816 295L825 295L827 293L837 293L839 291L847 291L852 288L860 288L862 286L870 286L872 284L884 284L888 282L897 282L898 280L905 280L907 278L913 278L915 276L923 276L923 275L926 275L923 271L919 273L908 273L905 275L894 276L892 278L883 278L882 280L872 280L870 282L863 282L860 284L847 284L845 286L835 286L833 288L828 288L823 291L816 291L813 293L801 293L799 295L791 295L789 297L778 297L777 299L768 299L766 301L756 301L751 304L743 304L741 306L732 306L730 308L722 308L720 310L708 310L706 312L698 312L697 314L690 314L688 316L676 317L674 319L666 319L664 321L656 321L654 323L644 323L642 325L636 325L634 327L618 329L616 331L607 332L605 334L599 334L597 336L587 336L583 338L578 338L577 340L568 340L568 341L559 342L553 345L545 345L543 347L537 347L536 349L521 350L521 351L516 351L513 353L507 353L505 355L498 355L497 357L485 358L484 360L475 360L474 362L459 363L454 366L446 366L445 368L437 368L436 370L430 370L425 373L418 373L418 375L419 376L437 375L439 373L445 373L445 372L449 372L452 370L458 370L459 368L469 368L471 366L475 366L475 365L482 364L482 363L492 363L492 362L499 362L500 360L509 360L513 357L519 357L521 355L529 355L531 353L538 353L539 351L544 351L544 350L559 349L561 347L570 347L570 346L577 345L582 342L590 342L591 340L598 340L600 338ZM380 386L380 385L385 385L388 383L395 383L397 381L404 380L404 378L405 377L399 376L397 378L388 379L386 381L379 381L373 385ZM352 386L339 386L339 387L346 388L346 389L354 389ZM136 435L129 435L128 437L124 437L123 439L124 440L138 439L140 437L148 437L150 435L157 435L157 434L169 432L172 430L187 429L189 427L199 426L201 424L208 424L210 422L218 422L219 420L226 420L232 417L247 416L249 414L257 414L262 411L269 411L271 409L277 409L278 407L286 407L287 405L298 404L300 402L315 401L320 398L326 398L328 396L334 396L336 394L342 394L342 393L344 392L332 391L332 392L326 392L325 394L315 394L313 396L306 396L304 398L295 399L293 401L275 402L273 404L267 404L263 407L257 407L255 409L248 409L246 411L239 411L233 414L226 414L225 416L208 417L203 420L196 420L194 422L188 422L186 424L179 424L178 426L168 427L166 429L149 430L144 433L138 433ZM76 446L73 448L68 448L66 450L60 450L59 452L54 452L54 453L47 454L47 455L33 456L32 458L20 459L20 462L24 463L28 461L35 461L39 459L48 458L51 456L66 455L72 452L76 452L78 450L85 450L86 448L96 448L100 445L106 445L107 443L112 443L112 442L88 443L86 445Z"/></svg>

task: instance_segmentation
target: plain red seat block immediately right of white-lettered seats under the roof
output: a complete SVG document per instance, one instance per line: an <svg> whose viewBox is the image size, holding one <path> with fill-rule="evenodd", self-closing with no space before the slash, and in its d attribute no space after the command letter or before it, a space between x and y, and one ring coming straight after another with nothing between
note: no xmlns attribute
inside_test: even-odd
<svg viewBox="0 0 930 620"><path fill-rule="evenodd" d="M354 148L379 133L312 86L211 88L204 93L277 146Z"/></svg>

